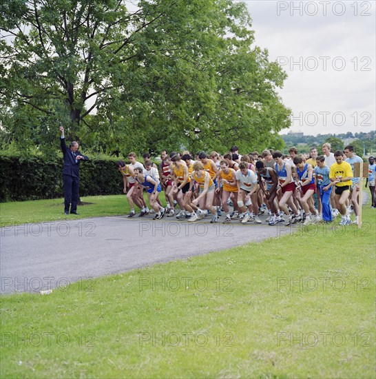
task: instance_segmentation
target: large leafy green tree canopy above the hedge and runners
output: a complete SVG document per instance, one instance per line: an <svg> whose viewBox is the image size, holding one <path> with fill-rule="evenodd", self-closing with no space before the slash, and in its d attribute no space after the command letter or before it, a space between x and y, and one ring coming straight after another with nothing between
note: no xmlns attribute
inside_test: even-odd
<svg viewBox="0 0 376 379"><path fill-rule="evenodd" d="M278 143L286 74L231 0L9 0L0 10L1 125L21 146L63 123L96 149Z"/></svg>

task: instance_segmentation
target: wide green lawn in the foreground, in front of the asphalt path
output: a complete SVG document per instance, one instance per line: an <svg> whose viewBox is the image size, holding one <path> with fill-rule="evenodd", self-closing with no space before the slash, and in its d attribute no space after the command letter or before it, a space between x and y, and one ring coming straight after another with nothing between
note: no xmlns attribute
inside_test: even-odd
<svg viewBox="0 0 376 379"><path fill-rule="evenodd" d="M0 376L375 378L375 209L363 221L1 296Z"/></svg>

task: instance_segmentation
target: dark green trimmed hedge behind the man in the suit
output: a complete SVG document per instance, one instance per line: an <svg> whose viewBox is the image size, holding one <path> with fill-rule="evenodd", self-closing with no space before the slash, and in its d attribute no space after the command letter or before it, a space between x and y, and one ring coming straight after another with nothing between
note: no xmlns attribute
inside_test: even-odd
<svg viewBox="0 0 376 379"><path fill-rule="evenodd" d="M80 165L80 196L123 193L118 158L90 156ZM0 202L60 198L63 190L63 155L20 157L0 153Z"/></svg>

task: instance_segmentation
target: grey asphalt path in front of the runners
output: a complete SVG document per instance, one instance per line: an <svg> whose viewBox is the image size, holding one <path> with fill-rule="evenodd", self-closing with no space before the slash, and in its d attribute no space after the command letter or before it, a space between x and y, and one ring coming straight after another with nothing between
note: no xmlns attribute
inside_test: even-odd
<svg viewBox="0 0 376 379"><path fill-rule="evenodd" d="M0 228L0 293L36 292L291 233L284 224L188 223L152 216L84 218Z"/></svg>

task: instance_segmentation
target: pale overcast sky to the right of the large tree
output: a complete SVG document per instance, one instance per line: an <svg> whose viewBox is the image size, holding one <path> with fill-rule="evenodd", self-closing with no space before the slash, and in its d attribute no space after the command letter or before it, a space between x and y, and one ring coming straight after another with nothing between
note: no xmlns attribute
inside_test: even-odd
<svg viewBox="0 0 376 379"><path fill-rule="evenodd" d="M293 111L291 131L375 130L375 0L244 3L255 45L289 75L280 96Z"/></svg>

